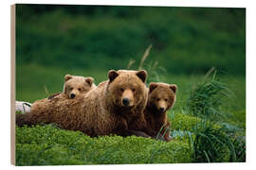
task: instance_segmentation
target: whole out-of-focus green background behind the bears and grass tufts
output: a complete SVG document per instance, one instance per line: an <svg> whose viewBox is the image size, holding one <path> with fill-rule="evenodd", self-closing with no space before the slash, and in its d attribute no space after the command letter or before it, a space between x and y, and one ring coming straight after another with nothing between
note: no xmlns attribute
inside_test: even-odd
<svg viewBox="0 0 256 170"><path fill-rule="evenodd" d="M211 67L233 92L227 110L246 109L246 9L16 6L16 100L63 91L64 76L141 68L178 86L174 110Z"/></svg>

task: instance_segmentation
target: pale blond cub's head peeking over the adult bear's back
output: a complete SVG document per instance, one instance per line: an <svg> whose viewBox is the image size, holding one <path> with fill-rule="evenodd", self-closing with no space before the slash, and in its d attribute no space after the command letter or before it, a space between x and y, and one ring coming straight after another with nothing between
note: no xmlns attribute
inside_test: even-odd
<svg viewBox="0 0 256 170"><path fill-rule="evenodd" d="M93 77L84 76L64 76L64 93L68 98L75 98L81 93L88 93L95 88Z"/></svg>

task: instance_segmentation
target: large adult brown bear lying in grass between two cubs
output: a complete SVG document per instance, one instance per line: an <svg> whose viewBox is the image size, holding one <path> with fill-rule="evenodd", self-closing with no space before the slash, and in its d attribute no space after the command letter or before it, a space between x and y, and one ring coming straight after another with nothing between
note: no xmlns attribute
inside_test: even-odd
<svg viewBox="0 0 256 170"><path fill-rule="evenodd" d="M147 104L147 72L111 70L108 80L76 100L57 95L34 105L26 114L16 114L22 126L56 123L69 130L80 130L92 137L118 134L149 137L143 110Z"/></svg>

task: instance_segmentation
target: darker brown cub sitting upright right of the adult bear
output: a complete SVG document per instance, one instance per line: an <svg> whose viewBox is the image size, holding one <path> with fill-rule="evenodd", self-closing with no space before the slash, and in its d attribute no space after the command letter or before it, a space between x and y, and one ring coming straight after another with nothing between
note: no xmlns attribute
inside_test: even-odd
<svg viewBox="0 0 256 170"><path fill-rule="evenodd" d="M156 136L163 136L165 141L171 140L167 110L174 106L176 90L174 84L152 82L149 85L148 102L144 110L147 127L155 131Z"/></svg>

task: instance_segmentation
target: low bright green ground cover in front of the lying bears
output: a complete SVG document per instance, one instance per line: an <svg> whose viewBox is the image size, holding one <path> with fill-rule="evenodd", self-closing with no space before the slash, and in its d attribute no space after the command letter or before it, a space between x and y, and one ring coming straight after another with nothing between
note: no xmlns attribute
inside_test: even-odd
<svg viewBox="0 0 256 170"><path fill-rule="evenodd" d="M90 138L52 125L16 127L16 164L137 164L191 162L189 144L141 137Z"/></svg>

